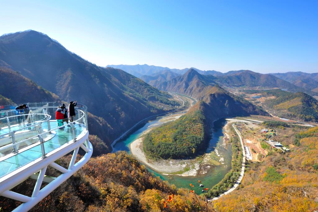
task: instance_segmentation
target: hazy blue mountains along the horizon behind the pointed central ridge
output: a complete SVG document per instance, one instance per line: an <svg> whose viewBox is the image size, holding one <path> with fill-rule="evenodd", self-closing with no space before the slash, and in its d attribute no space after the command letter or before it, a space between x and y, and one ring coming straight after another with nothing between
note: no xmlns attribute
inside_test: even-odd
<svg viewBox="0 0 318 212"><path fill-rule="evenodd" d="M282 74L260 74L250 70L237 70L222 73L215 70L202 71L193 67L189 69L170 69L168 67L149 66L147 64L109 65L109 67L120 68L159 89L161 83L171 80L171 76L175 76L176 74L182 75L189 69L193 69L202 75L215 76L215 81L220 85L225 86L286 88L291 92L306 92L309 95L316 95L315 93L318 92L318 73L308 74L304 72L287 72ZM167 72L169 72L169 75L167 75Z"/></svg>

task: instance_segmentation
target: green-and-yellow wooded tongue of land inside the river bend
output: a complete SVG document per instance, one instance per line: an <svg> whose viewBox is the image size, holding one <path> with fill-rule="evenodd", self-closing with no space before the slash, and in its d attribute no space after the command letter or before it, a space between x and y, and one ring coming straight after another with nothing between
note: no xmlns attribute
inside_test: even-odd
<svg viewBox="0 0 318 212"><path fill-rule="evenodd" d="M173 122L150 131L143 140L145 153L151 157L180 159L195 156L208 140L203 103Z"/></svg>

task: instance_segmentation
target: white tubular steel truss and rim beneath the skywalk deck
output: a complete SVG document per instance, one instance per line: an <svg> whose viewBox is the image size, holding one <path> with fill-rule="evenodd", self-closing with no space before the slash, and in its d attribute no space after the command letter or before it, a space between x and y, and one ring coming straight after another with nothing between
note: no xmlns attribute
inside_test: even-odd
<svg viewBox="0 0 318 212"><path fill-rule="evenodd" d="M77 163L75 163L79 148L82 148L86 152L86 154ZM68 169L54 162L72 151L73 156ZM65 145L57 148L56 150L47 153L45 155L45 158L36 159L30 162L29 164L21 167L20 169L17 169L12 173L5 175L3 178L1 178L0 195L10 199L24 202L19 207L14 209L14 212L28 211L32 207L34 207L38 202L40 202L43 198L45 198L48 194L50 194L54 189L56 189L59 185L61 185L68 178L70 178L82 166L84 166L87 163L87 161L91 158L92 153L93 146L88 141L88 131L85 131L77 137L76 141L71 140L67 142ZM57 178L45 177L47 166L53 167L54 169L60 171L62 174ZM39 174L35 174L38 172ZM12 189L13 187L15 187L16 185L28 178L37 179L31 197L10 191L10 189ZM48 181L49 183L45 187L40 189L42 183Z"/></svg>

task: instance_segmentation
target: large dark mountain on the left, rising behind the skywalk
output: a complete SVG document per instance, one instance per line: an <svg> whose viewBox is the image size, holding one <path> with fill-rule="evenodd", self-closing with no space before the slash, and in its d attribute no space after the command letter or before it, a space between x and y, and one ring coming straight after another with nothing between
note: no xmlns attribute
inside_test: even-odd
<svg viewBox="0 0 318 212"><path fill-rule="evenodd" d="M34 90L41 86L61 100L77 100L90 112L90 134L107 145L136 122L176 104L168 93L120 69L98 67L36 31L1 36L0 66L5 67L0 95L13 102L48 100L50 93Z"/></svg>

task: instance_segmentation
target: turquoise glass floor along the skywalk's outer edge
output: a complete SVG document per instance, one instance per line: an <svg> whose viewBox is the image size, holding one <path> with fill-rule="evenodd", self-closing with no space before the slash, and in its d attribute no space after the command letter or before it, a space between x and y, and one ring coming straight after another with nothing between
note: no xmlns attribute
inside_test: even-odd
<svg viewBox="0 0 318 212"><path fill-rule="evenodd" d="M57 127L56 121L50 122L51 129ZM85 128L79 124L75 124L75 135L78 136ZM66 126L62 130L55 130L56 134L53 138L44 142L45 153L52 152L63 144L73 140L72 127ZM0 161L0 177L10 173L11 171L42 157L41 145L38 144L28 150L13 155L12 157Z"/></svg>

